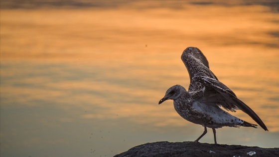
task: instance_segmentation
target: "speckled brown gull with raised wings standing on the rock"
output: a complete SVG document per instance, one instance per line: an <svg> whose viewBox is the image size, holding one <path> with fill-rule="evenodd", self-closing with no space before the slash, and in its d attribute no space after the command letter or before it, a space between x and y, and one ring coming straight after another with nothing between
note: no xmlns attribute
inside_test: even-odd
<svg viewBox="0 0 279 157"><path fill-rule="evenodd" d="M170 87L158 104L166 100L173 100L175 111L185 120L202 125L204 132L195 142L198 142L211 128L216 140L216 129L222 127L253 127L260 125L265 131L268 128L260 117L225 84L220 82L209 69L209 62L197 47L187 47L181 60L186 66L190 77L188 91L181 85ZM258 125L239 119L227 111L242 110L248 114Z"/></svg>

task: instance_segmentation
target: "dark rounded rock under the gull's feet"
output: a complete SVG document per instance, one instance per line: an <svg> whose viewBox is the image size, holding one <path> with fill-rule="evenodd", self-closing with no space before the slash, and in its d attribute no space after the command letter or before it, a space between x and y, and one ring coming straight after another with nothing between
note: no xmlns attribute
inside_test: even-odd
<svg viewBox="0 0 279 157"><path fill-rule="evenodd" d="M136 146L114 157L279 157L279 148L154 142Z"/></svg>

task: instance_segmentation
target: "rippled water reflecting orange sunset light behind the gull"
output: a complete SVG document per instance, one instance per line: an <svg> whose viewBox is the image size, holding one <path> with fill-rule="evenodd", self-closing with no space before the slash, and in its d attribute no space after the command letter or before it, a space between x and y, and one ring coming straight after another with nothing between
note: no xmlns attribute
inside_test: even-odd
<svg viewBox="0 0 279 157"><path fill-rule="evenodd" d="M279 11L272 1L1 1L0 156L111 157L203 127L158 105L201 49L218 79L270 130L217 142L279 147ZM242 111L232 113L255 122ZM201 143L214 143L211 131Z"/></svg>

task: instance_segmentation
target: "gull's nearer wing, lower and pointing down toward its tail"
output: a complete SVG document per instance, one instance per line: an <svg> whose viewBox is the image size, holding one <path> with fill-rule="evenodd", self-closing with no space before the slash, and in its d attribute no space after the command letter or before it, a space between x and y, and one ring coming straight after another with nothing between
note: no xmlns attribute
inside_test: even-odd
<svg viewBox="0 0 279 157"><path fill-rule="evenodd" d="M244 102L239 100L236 95L231 91L226 85L222 82L205 76L195 76L192 78L193 81L197 81L205 86L204 96L205 100L207 99L210 104L215 102L215 105L223 106L227 110L240 109L246 114L248 114L255 122L257 122L265 131L268 131L268 128L260 117ZM224 104L220 102L224 100ZM217 102L219 101L219 102ZM218 104L222 103L222 104Z"/></svg>

